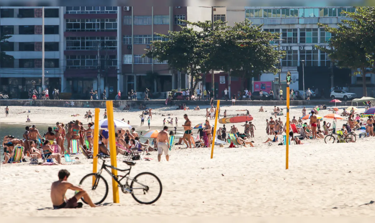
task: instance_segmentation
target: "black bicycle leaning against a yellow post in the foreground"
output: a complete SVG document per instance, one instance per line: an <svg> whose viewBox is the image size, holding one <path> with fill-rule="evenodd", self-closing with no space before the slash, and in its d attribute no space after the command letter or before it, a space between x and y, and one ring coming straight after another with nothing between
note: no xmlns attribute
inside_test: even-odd
<svg viewBox="0 0 375 223"><path fill-rule="evenodd" d="M87 174L80 181L80 186L86 190L94 204L101 204L108 195L108 183L101 175L103 169L111 175L117 182L118 187L121 188L123 193L130 193L135 201L140 204L153 204L162 195L162 183L156 175L149 172L142 172L134 178L129 177L130 170L135 162L123 161L130 168L118 169L105 164L104 156L98 154L98 157L103 160L102 168L97 173ZM113 175L107 168L115 169L120 172L127 172L125 175ZM125 184L121 180L126 178ZM129 181L130 184L129 184ZM84 203L87 202L81 198Z"/></svg>

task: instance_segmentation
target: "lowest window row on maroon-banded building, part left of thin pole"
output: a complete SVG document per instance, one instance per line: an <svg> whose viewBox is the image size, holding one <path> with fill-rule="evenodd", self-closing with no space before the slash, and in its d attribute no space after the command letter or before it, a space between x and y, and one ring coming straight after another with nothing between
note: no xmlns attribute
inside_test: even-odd
<svg viewBox="0 0 375 223"><path fill-rule="evenodd" d="M98 69L98 55L67 55L67 69Z"/></svg>

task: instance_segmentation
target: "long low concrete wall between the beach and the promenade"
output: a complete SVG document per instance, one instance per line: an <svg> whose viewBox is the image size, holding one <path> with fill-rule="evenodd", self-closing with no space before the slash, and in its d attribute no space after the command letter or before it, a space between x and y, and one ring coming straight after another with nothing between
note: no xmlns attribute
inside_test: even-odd
<svg viewBox="0 0 375 223"><path fill-rule="evenodd" d="M47 106L47 107L74 107L74 108L105 108L104 100L1 100L1 106ZM196 105L209 105L209 101L173 101L172 105L175 106L180 103L186 103L186 105L196 106ZM220 105L231 105L231 101L220 101ZM138 108L138 106L165 106L165 100L118 100L113 101L113 106L115 108L124 108L126 105L130 105L131 108ZM327 106L334 106L334 103L329 103L329 100L312 100L312 101L291 101L290 105L320 105L326 104ZM216 105L216 101L214 102ZM286 101L237 101L236 105L279 105L286 106ZM338 106L350 106L351 101L338 103ZM355 104L356 105L356 104Z"/></svg>

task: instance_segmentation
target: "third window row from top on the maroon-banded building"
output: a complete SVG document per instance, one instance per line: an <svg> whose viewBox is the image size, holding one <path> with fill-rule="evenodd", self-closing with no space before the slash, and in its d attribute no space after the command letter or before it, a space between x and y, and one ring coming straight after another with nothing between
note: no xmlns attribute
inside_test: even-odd
<svg viewBox="0 0 375 223"><path fill-rule="evenodd" d="M98 46L105 49L117 49L115 36L66 37L67 50L95 50Z"/></svg>

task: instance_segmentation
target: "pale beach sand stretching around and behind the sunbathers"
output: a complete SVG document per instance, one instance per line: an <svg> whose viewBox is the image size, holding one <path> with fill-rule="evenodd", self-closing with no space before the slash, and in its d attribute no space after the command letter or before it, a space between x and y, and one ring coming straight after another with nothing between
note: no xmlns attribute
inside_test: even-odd
<svg viewBox="0 0 375 223"><path fill-rule="evenodd" d="M87 108L20 107L11 106L9 117L0 115L1 123L25 124L30 115L31 124L64 123L77 119ZM183 124L183 114L189 115L193 125L205 120L205 111L175 111L175 107L153 107L151 129L160 129L161 114L171 113ZM193 108L193 106L190 106ZM205 107L202 107L205 110ZM260 106L223 106L227 115L248 109L257 127L254 148L215 146L214 158L210 148L183 149L176 146L170 160L157 162L157 152L151 152L151 161L137 161L132 176L139 172L156 174L163 185L160 199L153 205L140 205L129 194L120 192L120 203L113 204L110 192L100 208L51 210L51 183L57 180L58 170L71 172L69 181L78 184L92 172L92 160L78 156L80 164L64 166L31 166L26 163L1 165L1 216L374 216L374 142L375 137L359 139L355 144L325 144L323 139L304 141L305 145L291 145L289 169L285 170L285 146L263 144L267 139L266 118L273 106L264 106L267 112L258 112ZM285 106L281 106L285 108ZM342 108L339 107L338 108ZM291 107L299 117L301 107ZM28 111L29 114L15 114ZM103 111L104 109L101 109ZM4 111L4 106L0 107ZM93 109L92 109L93 111ZM359 112L363 112L360 108ZM323 111L326 115L330 112ZM116 119L125 118L139 132L140 111L114 111ZM102 117L102 114L101 114ZM278 116L280 117L280 116ZM285 123L286 117L281 117ZM325 121L331 121L324 118ZM339 121L341 126L345 121ZM213 123L213 121L211 121ZM147 125L147 122L145 123ZM243 132L241 124L236 124ZM218 127L221 127L218 124ZM227 129L230 129L227 124ZM181 130L178 128L178 130ZM1 132L1 137L6 135ZM118 159L121 159L118 156ZM64 159L63 159L64 160ZM63 161L64 162L64 161ZM118 161L120 168L126 165ZM110 184L109 175L104 177ZM67 193L71 197L73 192Z"/></svg>

